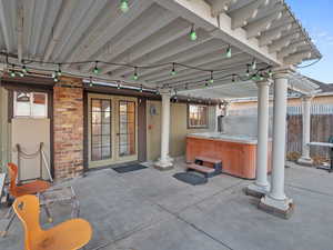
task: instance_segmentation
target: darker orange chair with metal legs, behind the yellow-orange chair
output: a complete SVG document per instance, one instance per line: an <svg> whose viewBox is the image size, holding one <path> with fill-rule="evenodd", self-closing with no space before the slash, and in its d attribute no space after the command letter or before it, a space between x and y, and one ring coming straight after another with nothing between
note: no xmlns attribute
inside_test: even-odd
<svg viewBox="0 0 333 250"><path fill-rule="evenodd" d="M22 186L17 186L17 178L18 178L18 167L14 163L8 163L8 172L10 177L10 184L9 184L9 193L13 198L19 198L26 194L36 194L42 193L50 188L50 183L48 181L42 180L34 180ZM51 214L47 206L44 206L46 213L48 216L49 222L52 222ZM12 211L12 208L8 211L7 218L9 218L9 222L4 229L4 231L0 231L1 237L6 237L16 214Z"/></svg>

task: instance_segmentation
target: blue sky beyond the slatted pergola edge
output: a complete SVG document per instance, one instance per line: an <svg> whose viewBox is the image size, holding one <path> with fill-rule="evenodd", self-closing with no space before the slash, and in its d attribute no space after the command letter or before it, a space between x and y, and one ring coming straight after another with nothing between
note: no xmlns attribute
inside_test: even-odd
<svg viewBox="0 0 333 250"><path fill-rule="evenodd" d="M323 59L300 72L325 83L333 83L333 0L285 0L309 32ZM304 62L303 66L309 64Z"/></svg>

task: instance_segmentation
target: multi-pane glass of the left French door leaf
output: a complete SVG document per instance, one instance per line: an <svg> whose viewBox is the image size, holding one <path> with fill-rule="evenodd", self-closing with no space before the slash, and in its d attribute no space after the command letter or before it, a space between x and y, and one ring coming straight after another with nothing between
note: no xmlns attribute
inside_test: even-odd
<svg viewBox="0 0 333 250"><path fill-rule="evenodd" d="M111 101L91 99L91 160L111 158Z"/></svg>

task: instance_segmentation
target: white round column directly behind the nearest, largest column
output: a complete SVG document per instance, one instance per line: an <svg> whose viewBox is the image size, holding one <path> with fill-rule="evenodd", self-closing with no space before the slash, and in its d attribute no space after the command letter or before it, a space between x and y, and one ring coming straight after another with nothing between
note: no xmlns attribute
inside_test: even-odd
<svg viewBox="0 0 333 250"><path fill-rule="evenodd" d="M255 182L248 187L246 193L262 197L270 191L268 181L270 80L259 81L258 86L258 147Z"/></svg>

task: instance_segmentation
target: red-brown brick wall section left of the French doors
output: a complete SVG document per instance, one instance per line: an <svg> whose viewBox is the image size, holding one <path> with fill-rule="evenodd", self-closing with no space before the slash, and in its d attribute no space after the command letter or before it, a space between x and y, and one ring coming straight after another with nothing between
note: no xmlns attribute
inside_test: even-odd
<svg viewBox="0 0 333 250"><path fill-rule="evenodd" d="M73 178L83 173L82 80L61 78L53 88L54 176Z"/></svg>

